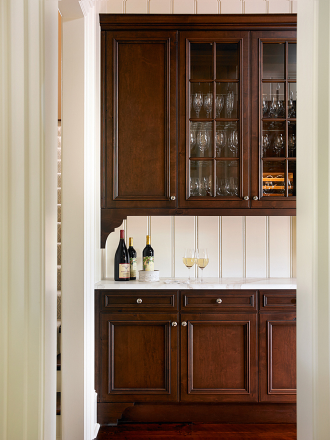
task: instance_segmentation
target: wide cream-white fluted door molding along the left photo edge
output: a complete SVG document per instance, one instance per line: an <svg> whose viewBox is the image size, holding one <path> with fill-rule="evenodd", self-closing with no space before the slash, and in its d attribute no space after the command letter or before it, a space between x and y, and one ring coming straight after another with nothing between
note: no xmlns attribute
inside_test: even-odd
<svg viewBox="0 0 330 440"><path fill-rule="evenodd" d="M0 438L54 440L57 1L2 1L0 29Z"/></svg>

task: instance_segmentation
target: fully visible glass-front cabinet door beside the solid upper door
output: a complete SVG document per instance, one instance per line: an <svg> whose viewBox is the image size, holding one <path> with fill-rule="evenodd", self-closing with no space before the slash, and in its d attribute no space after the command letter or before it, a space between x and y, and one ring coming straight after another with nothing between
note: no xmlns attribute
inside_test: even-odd
<svg viewBox="0 0 330 440"><path fill-rule="evenodd" d="M179 206L248 207L248 32L179 37Z"/></svg>

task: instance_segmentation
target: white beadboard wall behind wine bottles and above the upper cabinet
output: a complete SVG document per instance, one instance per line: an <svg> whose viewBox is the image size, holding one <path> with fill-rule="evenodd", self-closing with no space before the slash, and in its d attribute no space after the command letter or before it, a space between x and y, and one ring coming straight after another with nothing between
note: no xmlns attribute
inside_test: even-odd
<svg viewBox="0 0 330 440"><path fill-rule="evenodd" d="M292 13L297 0L110 0L102 12L112 13ZM126 242L134 238L137 265L150 227L160 276L186 276L184 247L207 247L210 262L204 276L295 276L295 218L127 217ZM120 227L121 228L121 227ZM102 254L102 277L113 277L119 229L112 232ZM195 267L194 270L197 270ZM195 274L196 275L196 274Z"/></svg>

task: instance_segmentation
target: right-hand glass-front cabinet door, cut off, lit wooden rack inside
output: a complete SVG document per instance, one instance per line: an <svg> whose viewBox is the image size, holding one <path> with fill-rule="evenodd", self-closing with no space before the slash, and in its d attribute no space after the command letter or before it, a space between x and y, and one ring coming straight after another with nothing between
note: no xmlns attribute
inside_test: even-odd
<svg viewBox="0 0 330 440"><path fill-rule="evenodd" d="M296 42L281 35L252 35L252 207L295 206Z"/></svg>

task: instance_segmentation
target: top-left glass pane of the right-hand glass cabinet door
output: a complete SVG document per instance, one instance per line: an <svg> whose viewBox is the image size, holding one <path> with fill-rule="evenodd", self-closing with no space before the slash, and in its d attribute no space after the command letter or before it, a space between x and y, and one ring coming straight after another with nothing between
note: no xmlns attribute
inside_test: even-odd
<svg viewBox="0 0 330 440"><path fill-rule="evenodd" d="M283 43L265 43L262 44L262 78L263 79L284 79Z"/></svg>

